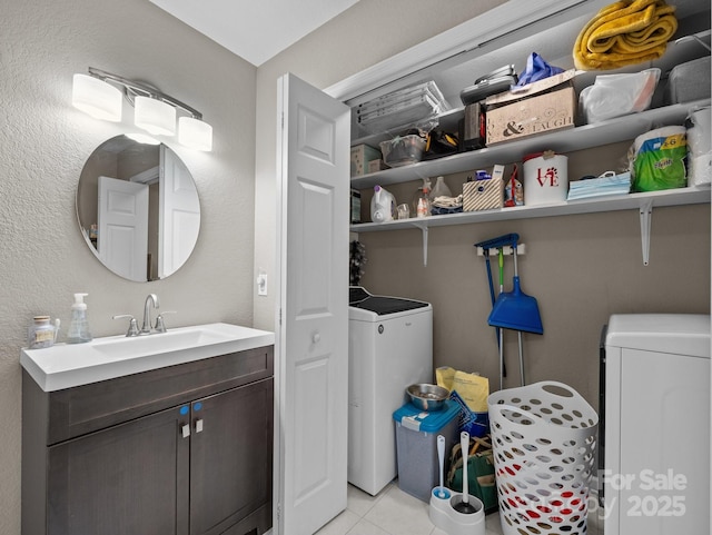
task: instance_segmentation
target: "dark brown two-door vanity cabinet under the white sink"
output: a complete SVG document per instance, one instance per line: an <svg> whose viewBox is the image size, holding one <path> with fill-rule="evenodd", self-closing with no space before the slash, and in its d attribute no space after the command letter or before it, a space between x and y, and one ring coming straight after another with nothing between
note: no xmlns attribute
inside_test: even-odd
<svg viewBox="0 0 712 535"><path fill-rule="evenodd" d="M273 348L42 392L23 377L23 535L271 527Z"/></svg>

